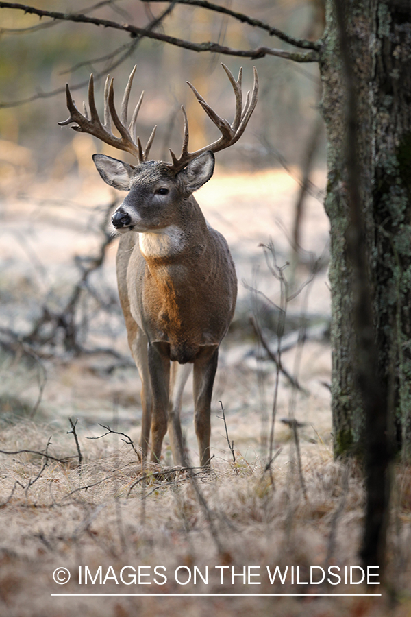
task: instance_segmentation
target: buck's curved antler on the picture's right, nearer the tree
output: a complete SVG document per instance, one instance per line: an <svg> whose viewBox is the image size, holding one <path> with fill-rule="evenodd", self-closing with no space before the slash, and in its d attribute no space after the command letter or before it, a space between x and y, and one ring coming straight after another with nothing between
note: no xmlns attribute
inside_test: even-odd
<svg viewBox="0 0 411 617"><path fill-rule="evenodd" d="M197 92L195 87L192 84L190 84L190 82L187 82L190 88L192 89L193 93L195 93L197 97L197 101L199 101L199 104L201 105L203 110L206 112L208 117L214 122L216 127L219 128L221 132L221 137L217 141L214 141L210 145L207 145L199 150L196 150L195 152L188 152L188 121L187 121L186 110L184 109L184 106L182 106L182 112L183 112L183 117L184 117L184 138L183 138L183 145L182 145L182 153L180 154L179 158L177 158L174 152L170 150L171 158L173 160L171 168L173 169L173 171L175 171L175 173L177 173L178 171L186 167L186 165L188 164L188 162L190 162L190 160L192 160L196 156L199 156L199 154L206 152L206 150L211 150L212 152L219 152L219 150L223 150L224 148L227 148L233 145L234 143L236 143L236 141L240 139L243 132L245 131L245 127L247 126L247 123L251 117L251 114L253 113L254 108L256 107L257 94L258 94L258 75L257 75L256 67L254 66L254 83L253 83L253 90L251 93L251 97L250 97L250 93L248 92L247 97L245 99L245 105L243 107L242 106L242 91L241 91L242 69L240 69L238 73L238 79L235 80L234 75L227 68L227 66L225 66L225 64L223 63L221 63L221 66L223 66L225 73L227 73L227 77L229 79L229 82L232 84L234 95L236 97L236 112L234 114L234 120L232 121L231 124L229 124L227 120L219 117L219 115L216 114L216 112L210 107L210 105Z"/></svg>

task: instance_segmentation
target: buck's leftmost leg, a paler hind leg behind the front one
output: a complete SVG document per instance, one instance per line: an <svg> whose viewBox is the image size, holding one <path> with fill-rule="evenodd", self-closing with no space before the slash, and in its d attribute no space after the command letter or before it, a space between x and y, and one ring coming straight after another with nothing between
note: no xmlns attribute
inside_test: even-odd
<svg viewBox="0 0 411 617"><path fill-rule="evenodd" d="M129 347L132 351L132 356L136 363L138 374L140 375L141 387L141 437L140 448L142 458L147 458L149 448L150 428L151 428L151 408L153 404L153 396L151 393L151 383L149 374L149 363L147 358L147 337L144 332L138 328L137 324L134 328L132 337L129 337Z"/></svg>

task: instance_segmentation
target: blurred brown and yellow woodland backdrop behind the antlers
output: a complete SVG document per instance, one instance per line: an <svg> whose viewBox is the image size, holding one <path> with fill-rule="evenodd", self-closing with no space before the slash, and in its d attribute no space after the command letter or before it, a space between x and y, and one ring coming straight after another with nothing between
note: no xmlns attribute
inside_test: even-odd
<svg viewBox="0 0 411 617"><path fill-rule="evenodd" d="M127 0L95 5L77 0L69 4L36 3L38 8L98 15L140 26L151 23L153 13L160 15L165 6ZM275 23L294 36L318 38L321 34L323 16L318 1L239 1L235 9L251 13L266 23ZM164 25L167 34L177 38L213 40L246 49L264 44L289 48L260 30L195 7L176 5ZM160 30L163 27L160 25ZM96 99L101 101L105 75L110 72L114 76L120 93L132 66L137 64L134 94L145 90L138 130L139 134L148 136L153 124L158 124L155 158L166 158L169 147L178 149L182 104L190 119L192 145L206 143L213 131L206 114L200 113L186 80L222 113L232 114L232 91L219 67L224 58L217 54L193 53L148 39L127 40L127 34L110 28L46 18L40 21L37 16L7 10L1 11L0 36L1 179L2 182L9 179L8 190L13 186L15 189L18 174L23 171L21 167L34 177L62 178L73 171L84 173L84 168L91 165L88 151L94 152L101 145L93 143L90 136L57 126L67 115L64 84L71 85L73 96L81 104L90 72L95 73ZM247 80L251 73L250 60L229 58L228 63L233 73L243 65ZM318 67L266 57L258 60L258 73L259 103L247 138L236 149L221 153L219 163L230 165L235 161L237 167L242 165L248 170L278 166L280 161L300 165L318 113ZM78 84L82 87L76 88ZM31 99L34 100L16 105L18 101ZM25 156L23 151L13 149L12 144L27 148ZM324 149L321 149L318 161L323 160Z"/></svg>

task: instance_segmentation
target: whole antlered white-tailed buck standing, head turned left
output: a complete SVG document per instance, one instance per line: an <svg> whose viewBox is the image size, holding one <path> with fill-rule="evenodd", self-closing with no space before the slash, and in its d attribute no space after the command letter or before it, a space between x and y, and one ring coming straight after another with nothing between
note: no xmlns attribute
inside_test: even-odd
<svg viewBox="0 0 411 617"><path fill-rule="evenodd" d="M210 404L219 345L234 314L236 271L227 242L212 229L192 196L210 180L214 152L236 143L256 106L258 78L243 106L241 75L235 80L223 65L234 89L236 110L231 124L220 118L191 84L203 110L219 128L221 137L197 152L188 152L188 122L184 107L184 139L179 158L172 162L148 160L155 134L145 149L135 137L142 95L127 123L127 107L136 67L129 77L120 117L114 107L113 80L104 93L104 123L95 105L92 75L88 105L79 112L66 88L70 117L61 125L90 133L101 141L133 154L136 165L95 154L93 160L111 186L129 191L112 216L122 234L117 253L117 280L130 349L142 380L142 456L147 456L151 428L151 461L160 461L162 441L169 426L175 463L185 464L179 421L182 391L194 367L195 431L201 465L210 461ZM188 82L187 82L188 83ZM120 136L114 136L111 121ZM170 365L170 363L172 363ZM182 365L182 366L180 366ZM171 383L171 385L170 385Z"/></svg>

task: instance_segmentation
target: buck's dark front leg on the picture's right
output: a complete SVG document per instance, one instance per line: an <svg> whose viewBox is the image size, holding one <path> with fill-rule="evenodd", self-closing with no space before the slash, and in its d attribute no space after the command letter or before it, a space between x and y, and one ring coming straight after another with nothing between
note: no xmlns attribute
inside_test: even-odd
<svg viewBox="0 0 411 617"><path fill-rule="evenodd" d="M218 347L210 346L203 348L194 362L194 423L201 467L210 467L210 408L218 361Z"/></svg>

